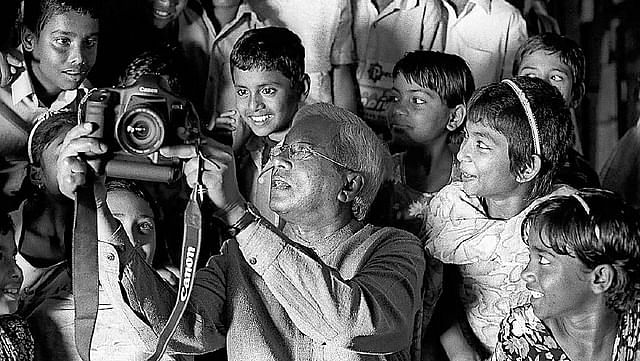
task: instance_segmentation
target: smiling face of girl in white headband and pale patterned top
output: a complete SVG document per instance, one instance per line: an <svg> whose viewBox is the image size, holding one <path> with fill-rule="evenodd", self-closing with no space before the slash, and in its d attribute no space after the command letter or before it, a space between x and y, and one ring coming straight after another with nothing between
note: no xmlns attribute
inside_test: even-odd
<svg viewBox="0 0 640 361"><path fill-rule="evenodd" d="M457 157L467 194L494 200L516 194L520 184L511 173L509 142L502 133L467 121Z"/></svg>

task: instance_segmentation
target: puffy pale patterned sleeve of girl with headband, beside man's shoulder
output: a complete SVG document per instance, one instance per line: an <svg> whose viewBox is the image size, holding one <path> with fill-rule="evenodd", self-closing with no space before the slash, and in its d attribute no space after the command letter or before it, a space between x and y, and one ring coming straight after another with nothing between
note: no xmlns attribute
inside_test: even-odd
<svg viewBox="0 0 640 361"><path fill-rule="evenodd" d="M459 182L445 186L429 203L425 248L443 263L489 260L501 243L506 221L487 218L478 200L461 187Z"/></svg>

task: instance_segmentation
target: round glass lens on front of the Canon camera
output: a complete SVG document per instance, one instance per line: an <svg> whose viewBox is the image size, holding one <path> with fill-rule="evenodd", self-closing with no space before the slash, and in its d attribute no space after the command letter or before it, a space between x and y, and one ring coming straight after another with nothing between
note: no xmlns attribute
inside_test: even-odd
<svg viewBox="0 0 640 361"><path fill-rule="evenodd" d="M126 152L138 155L153 153L162 146L165 127L162 118L153 109L130 109L116 124L116 138Z"/></svg>

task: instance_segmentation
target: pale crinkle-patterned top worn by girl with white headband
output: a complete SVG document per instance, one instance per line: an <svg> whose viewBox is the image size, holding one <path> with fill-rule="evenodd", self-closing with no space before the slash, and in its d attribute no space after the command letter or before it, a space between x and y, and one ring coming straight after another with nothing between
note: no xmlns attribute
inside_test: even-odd
<svg viewBox="0 0 640 361"><path fill-rule="evenodd" d="M573 188L562 186L552 195L571 192ZM507 220L490 218L481 200L464 192L462 182L445 186L429 203L425 248L443 263L458 265L469 325L489 350L496 345L500 321L529 300L520 278L529 248L520 229L528 211L545 198Z"/></svg>

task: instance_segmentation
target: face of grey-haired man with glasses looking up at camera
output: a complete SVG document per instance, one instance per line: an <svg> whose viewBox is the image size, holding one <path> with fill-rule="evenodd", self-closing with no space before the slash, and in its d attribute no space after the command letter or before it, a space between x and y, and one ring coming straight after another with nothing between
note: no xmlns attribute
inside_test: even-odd
<svg viewBox="0 0 640 361"><path fill-rule="evenodd" d="M314 153L296 159L299 154L292 156L285 150L273 157L275 169L269 205L285 220L322 221L340 214L344 204L340 204L337 196L344 185L343 169L316 153L335 159L330 144L336 134L336 125L318 116L300 118L287 134L285 148L301 143L310 146Z"/></svg>

